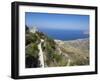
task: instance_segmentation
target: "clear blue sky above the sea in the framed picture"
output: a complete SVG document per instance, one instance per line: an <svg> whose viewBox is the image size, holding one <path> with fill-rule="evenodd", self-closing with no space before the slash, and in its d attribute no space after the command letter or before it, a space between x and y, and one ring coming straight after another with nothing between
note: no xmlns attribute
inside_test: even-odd
<svg viewBox="0 0 100 81"><path fill-rule="evenodd" d="M25 24L42 29L88 30L89 16L25 12Z"/></svg>

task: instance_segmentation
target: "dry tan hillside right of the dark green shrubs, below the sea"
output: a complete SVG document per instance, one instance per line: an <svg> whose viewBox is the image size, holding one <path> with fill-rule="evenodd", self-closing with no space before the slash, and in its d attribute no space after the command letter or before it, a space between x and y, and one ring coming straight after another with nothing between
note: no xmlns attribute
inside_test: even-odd
<svg viewBox="0 0 100 81"><path fill-rule="evenodd" d="M89 64L89 39L57 41L62 54L67 55L70 66Z"/></svg>

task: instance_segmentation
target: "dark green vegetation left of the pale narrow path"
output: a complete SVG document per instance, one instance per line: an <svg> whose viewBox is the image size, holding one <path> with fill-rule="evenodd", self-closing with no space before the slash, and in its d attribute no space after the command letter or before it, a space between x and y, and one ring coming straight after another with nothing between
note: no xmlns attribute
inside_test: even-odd
<svg viewBox="0 0 100 81"><path fill-rule="evenodd" d="M25 38L26 68L40 67L40 61L38 59L39 49L37 46L39 39L36 34L29 32L29 28L27 26Z"/></svg>

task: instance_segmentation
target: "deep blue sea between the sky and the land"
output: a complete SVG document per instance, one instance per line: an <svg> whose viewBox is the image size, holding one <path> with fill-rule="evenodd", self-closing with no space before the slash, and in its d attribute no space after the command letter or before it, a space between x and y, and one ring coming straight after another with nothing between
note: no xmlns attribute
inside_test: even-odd
<svg viewBox="0 0 100 81"><path fill-rule="evenodd" d="M58 29L40 29L47 36L58 40L76 40L88 38L89 34L85 34L82 30L58 30Z"/></svg>

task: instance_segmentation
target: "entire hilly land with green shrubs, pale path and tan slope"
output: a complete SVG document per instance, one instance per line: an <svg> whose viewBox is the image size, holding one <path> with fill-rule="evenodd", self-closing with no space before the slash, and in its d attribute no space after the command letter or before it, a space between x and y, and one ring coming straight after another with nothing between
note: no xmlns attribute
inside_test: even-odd
<svg viewBox="0 0 100 81"><path fill-rule="evenodd" d="M26 68L89 64L89 39L54 40L37 30L26 26Z"/></svg>

